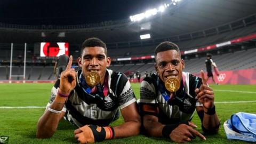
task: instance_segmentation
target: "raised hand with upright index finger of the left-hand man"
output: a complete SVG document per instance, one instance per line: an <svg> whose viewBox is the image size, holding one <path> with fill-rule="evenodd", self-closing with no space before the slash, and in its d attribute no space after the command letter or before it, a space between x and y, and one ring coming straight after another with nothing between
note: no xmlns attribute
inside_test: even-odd
<svg viewBox="0 0 256 144"><path fill-rule="evenodd" d="M72 66L73 57L70 55L65 71L60 75L60 93L69 94L76 86L76 71Z"/></svg>

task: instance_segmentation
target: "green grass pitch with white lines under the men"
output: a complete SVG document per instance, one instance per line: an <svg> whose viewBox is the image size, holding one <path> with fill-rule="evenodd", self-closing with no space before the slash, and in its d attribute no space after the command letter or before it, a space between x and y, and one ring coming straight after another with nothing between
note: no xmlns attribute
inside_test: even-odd
<svg viewBox="0 0 256 144"><path fill-rule="evenodd" d="M26 107L46 106L49 100L53 84L0 84L0 135L9 135L9 143L77 143L74 139L76 127L67 121L61 121L57 132L50 139L36 139L36 125L38 118L43 114L44 108L12 108L3 107ZM139 98L140 84L132 84L134 93ZM230 118L231 114L239 111L256 113L256 89L255 85L211 85L215 93L215 106L221 121L220 131L217 135L206 135L206 141L196 138L192 143L247 143L226 138L223 122ZM246 93L249 92L249 93ZM238 102L234 101L254 101ZM219 103L228 102L228 103ZM201 122L197 114L192 120L197 130L202 132ZM123 123L122 117L111 126ZM105 140L100 143L170 143L166 138L135 137Z"/></svg>

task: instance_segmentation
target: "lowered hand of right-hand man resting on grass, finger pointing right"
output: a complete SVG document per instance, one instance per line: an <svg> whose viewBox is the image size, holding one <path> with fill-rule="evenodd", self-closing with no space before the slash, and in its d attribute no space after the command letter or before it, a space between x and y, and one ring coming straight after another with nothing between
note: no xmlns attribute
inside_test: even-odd
<svg viewBox="0 0 256 144"><path fill-rule="evenodd" d="M189 125L180 124L171 132L170 138L174 142L188 142L195 139L196 136L202 140L206 140L204 135L193 129L196 127L197 126L192 122L189 122Z"/></svg>

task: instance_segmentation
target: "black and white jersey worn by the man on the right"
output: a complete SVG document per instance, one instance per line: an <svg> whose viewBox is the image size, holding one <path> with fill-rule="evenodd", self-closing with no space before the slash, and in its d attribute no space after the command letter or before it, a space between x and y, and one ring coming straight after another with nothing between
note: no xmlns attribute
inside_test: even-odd
<svg viewBox="0 0 256 144"><path fill-rule="evenodd" d="M195 99L195 89L199 88L201 84L201 78L182 72L180 89L174 93L173 99L166 100L163 94L166 92L167 95L170 95L170 93L165 89L164 83L156 74L150 75L143 79L141 83L140 106L150 105L158 107L158 114L151 113L151 115L157 116L158 121L163 124L189 121L195 113L196 106L202 106L202 103L199 103ZM145 110L146 109L141 109L141 114L150 115L150 113Z"/></svg>

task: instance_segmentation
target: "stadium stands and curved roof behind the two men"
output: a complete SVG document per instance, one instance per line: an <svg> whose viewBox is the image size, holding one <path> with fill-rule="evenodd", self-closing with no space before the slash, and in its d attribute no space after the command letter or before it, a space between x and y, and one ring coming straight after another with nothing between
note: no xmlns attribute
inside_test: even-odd
<svg viewBox="0 0 256 144"><path fill-rule="evenodd" d="M204 15L198 13L197 4L199 3L202 4ZM145 71L148 73L155 71L154 58L151 55L154 55L155 47L164 41L174 42L180 47L182 58L186 62L185 71L190 73L198 73L199 69L205 68L206 53L214 55L214 61L218 63L221 71L255 68L253 57L256 53L254 36L256 11L253 6L255 2L244 1L243 4L226 2L229 9L218 7L221 17L216 12L210 11L212 5L219 3L222 1L211 3L202 0L181 1L178 7L166 6L166 12L161 17L154 16L141 22L136 20L138 15L133 15L131 21L115 19L69 25L54 23L27 25L22 22L0 21L0 79L9 79L11 42L13 43L12 80L23 79L25 43L26 79L52 80L55 79L52 71L56 58L41 57L40 42L49 41L55 44L58 41L67 42L69 55L73 55L76 59L81 55L81 44L84 39L92 36L106 42L108 55L112 59L110 68L130 77L137 71L142 77ZM191 20L189 15L197 15L197 17ZM189 25L186 20L189 21ZM139 38L139 35L146 33L151 33L151 38ZM254 37L239 42L239 38L251 35ZM233 39L236 39L236 43L231 43ZM212 45L217 44L221 46L211 48ZM202 47L203 51L199 51L198 49ZM64 49L66 51L65 47ZM76 63L76 60L73 63Z"/></svg>

